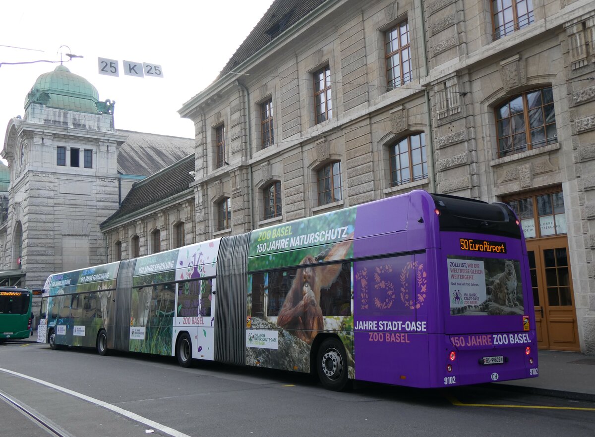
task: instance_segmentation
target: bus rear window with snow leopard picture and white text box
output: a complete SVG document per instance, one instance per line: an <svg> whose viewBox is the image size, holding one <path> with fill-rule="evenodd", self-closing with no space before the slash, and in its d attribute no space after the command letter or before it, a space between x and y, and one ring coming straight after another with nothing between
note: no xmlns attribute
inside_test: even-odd
<svg viewBox="0 0 595 437"><path fill-rule="evenodd" d="M446 261L451 315L524 314L518 260L452 255Z"/></svg>

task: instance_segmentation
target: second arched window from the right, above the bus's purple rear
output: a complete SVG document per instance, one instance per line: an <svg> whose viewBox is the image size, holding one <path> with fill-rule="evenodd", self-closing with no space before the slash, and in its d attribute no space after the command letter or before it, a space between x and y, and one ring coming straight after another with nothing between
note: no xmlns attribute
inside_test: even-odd
<svg viewBox="0 0 595 437"><path fill-rule="evenodd" d="M428 177L428 158L423 132L409 135L389 147L390 186Z"/></svg>

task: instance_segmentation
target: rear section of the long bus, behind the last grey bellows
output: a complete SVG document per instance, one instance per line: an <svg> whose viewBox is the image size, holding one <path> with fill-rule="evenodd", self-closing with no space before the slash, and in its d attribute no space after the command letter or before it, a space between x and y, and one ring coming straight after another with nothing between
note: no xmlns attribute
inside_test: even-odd
<svg viewBox="0 0 595 437"><path fill-rule="evenodd" d="M508 206L419 190L253 231L246 364L331 389L537 376L528 271Z"/></svg>

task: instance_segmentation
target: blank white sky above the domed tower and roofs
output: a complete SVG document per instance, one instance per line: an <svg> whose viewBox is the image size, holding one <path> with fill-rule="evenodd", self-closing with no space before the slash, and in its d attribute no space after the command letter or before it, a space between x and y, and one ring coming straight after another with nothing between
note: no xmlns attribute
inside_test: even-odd
<svg viewBox="0 0 595 437"><path fill-rule="evenodd" d="M177 110L214 81L272 3L2 2L0 62L60 61L60 50L82 55L83 59L64 65L92 83L100 101L115 100L116 128L193 137L192 122L180 118ZM60 49L62 45L68 48ZM119 61L120 77L99 74L98 57ZM164 77L124 76L124 60L161 65ZM0 149L10 118L24 115L24 100L37 77L57 65L39 62L0 67Z"/></svg>

